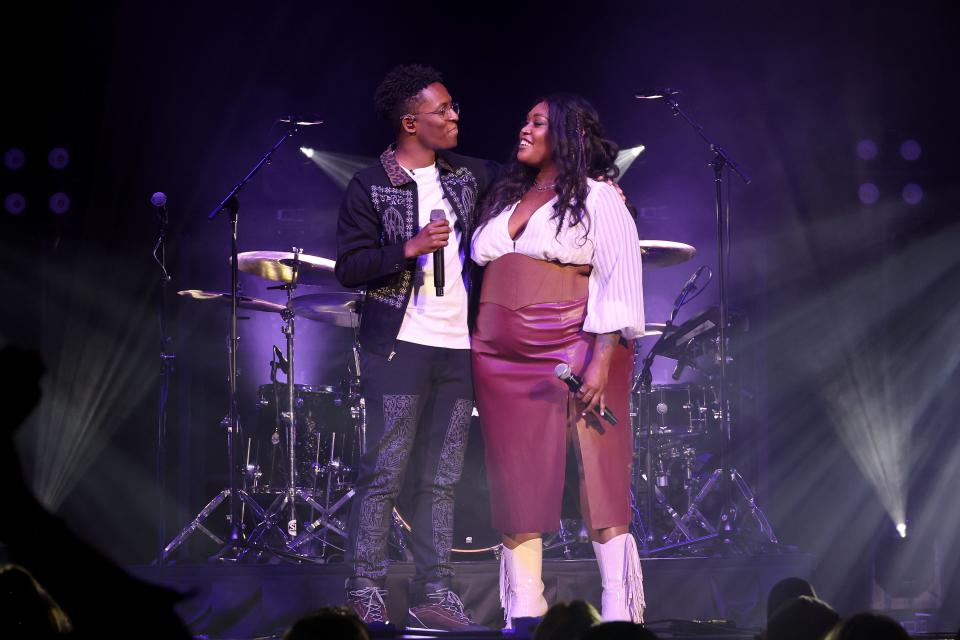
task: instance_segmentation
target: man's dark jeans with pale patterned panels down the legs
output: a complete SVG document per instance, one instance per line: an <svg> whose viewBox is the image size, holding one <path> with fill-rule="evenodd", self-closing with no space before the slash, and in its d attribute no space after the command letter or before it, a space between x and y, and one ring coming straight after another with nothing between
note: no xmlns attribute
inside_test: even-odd
<svg viewBox="0 0 960 640"><path fill-rule="evenodd" d="M367 451L360 460L346 559L354 578L383 584L391 513L415 452L410 525L416 589L453 575L453 486L463 469L473 411L470 350L398 341L395 352L391 360L367 351L360 355Z"/></svg>

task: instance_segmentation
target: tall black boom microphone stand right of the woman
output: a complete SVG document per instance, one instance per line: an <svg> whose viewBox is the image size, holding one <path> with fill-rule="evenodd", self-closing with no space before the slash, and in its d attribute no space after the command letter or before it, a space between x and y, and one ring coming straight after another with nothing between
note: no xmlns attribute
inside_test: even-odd
<svg viewBox="0 0 960 640"><path fill-rule="evenodd" d="M729 446L730 446L730 408L727 404L727 258L726 258L726 247L727 247L727 238L726 230L729 229L729 211L724 212L723 208L723 169L729 167L732 169L745 184L750 184L750 177L747 176L734 162L733 158L726 152L726 150L717 144L713 139L711 139L703 130L703 127L693 119L683 109L680 108L680 105L677 103L676 92L667 92L663 98L666 100L667 104L670 105L670 110L674 116L680 116L687 121L693 130L696 131L697 135L707 143L710 147L710 151L713 152L713 160L710 161L709 166L713 169L713 182L716 192L716 209L717 209L717 261L718 268L720 271L720 280L719 280L719 290L720 290L720 468L727 470L727 457L729 455ZM725 215L726 213L726 215ZM731 522L730 522L730 513L731 513L731 487L730 482L727 481L727 474L724 473L723 477L723 509L721 512L721 524L724 531L729 531Z"/></svg>

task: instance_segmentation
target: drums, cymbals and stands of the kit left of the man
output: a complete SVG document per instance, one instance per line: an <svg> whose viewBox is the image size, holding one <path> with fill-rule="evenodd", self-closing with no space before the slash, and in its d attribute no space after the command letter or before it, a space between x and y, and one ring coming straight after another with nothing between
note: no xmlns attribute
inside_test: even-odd
<svg viewBox="0 0 960 640"><path fill-rule="evenodd" d="M340 514L354 495L354 474L365 441L365 407L360 394L359 345L362 294L330 291L295 295L303 285L334 284L334 261L294 247L284 251L237 254L241 273L276 282L269 290L286 292L279 304L238 296L237 307L278 314L283 319L285 353L274 346L270 383L257 390L255 438L246 440L246 457L238 487L243 509L242 544L237 560L254 553L294 560L323 561L342 553L345 518ZM201 302L233 304L229 293L184 290L179 295ZM352 369L337 385L298 384L295 377L298 319L354 331ZM280 374L286 380L279 378ZM228 445L229 446L229 445ZM218 544L204 521L229 496L225 489L211 500L163 550L170 556L187 537L200 531ZM248 516L247 509L252 513ZM227 548L225 547L224 551Z"/></svg>

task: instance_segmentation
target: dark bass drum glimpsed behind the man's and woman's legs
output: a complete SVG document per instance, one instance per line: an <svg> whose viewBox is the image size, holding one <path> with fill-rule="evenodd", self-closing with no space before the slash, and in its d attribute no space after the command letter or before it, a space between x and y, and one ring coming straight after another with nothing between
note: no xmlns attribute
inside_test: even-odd
<svg viewBox="0 0 960 640"><path fill-rule="evenodd" d="M412 482L413 466L416 460L411 460L410 472L407 473L406 483L397 500L394 510L394 520L402 529L400 540L394 540L395 546L405 547L404 538L409 538L412 531L410 520L406 515L413 511ZM490 490L487 487L486 465L483 460L483 435L480 433L480 420L474 411L470 421L470 436L467 452L463 461L463 473L453 494L453 556L460 560L480 560L493 557L500 548L500 533L490 526ZM408 555L405 548L399 549L401 555Z"/></svg>

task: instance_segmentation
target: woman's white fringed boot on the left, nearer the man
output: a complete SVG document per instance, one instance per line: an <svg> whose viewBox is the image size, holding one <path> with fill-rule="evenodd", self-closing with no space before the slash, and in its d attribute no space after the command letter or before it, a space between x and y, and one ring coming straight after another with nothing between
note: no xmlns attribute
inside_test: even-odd
<svg viewBox="0 0 960 640"><path fill-rule="evenodd" d="M506 629L514 618L538 618L547 612L543 597L543 541L527 540L516 549L500 551L500 604Z"/></svg>

